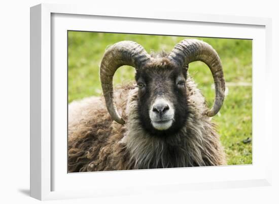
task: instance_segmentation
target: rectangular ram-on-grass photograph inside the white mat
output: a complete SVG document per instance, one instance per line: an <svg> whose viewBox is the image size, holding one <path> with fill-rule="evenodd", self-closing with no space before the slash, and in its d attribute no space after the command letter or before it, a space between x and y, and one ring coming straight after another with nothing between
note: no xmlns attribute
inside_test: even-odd
<svg viewBox="0 0 279 204"><path fill-rule="evenodd" d="M67 173L252 165L252 45L67 30Z"/></svg>

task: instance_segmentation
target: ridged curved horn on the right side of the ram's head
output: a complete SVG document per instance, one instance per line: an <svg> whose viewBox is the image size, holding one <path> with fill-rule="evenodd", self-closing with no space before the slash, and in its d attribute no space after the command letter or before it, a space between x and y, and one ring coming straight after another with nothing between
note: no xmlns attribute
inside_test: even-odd
<svg viewBox="0 0 279 204"><path fill-rule="evenodd" d="M225 80L221 60L217 52L207 43L197 39L184 39L178 43L168 56L180 66L194 61L204 62L211 70L215 84L214 105L207 116L214 116L220 110L225 95Z"/></svg>

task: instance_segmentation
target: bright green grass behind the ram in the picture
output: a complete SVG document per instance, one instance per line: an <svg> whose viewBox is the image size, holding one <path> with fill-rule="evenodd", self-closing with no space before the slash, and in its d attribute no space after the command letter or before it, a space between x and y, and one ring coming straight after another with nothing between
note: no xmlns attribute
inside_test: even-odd
<svg viewBox="0 0 279 204"><path fill-rule="evenodd" d="M99 64L104 50L121 40L133 40L148 53L171 51L181 36L115 34L97 32L68 32L68 102L87 96L100 96ZM213 117L218 125L221 142L229 165L252 164L252 86L231 86L237 83L252 84L252 40L200 38L218 52L228 85L228 95L220 110ZM206 97L208 106L214 102L213 78L202 62L189 65L189 73ZM134 79L134 68L124 66L114 76L114 85Z"/></svg>

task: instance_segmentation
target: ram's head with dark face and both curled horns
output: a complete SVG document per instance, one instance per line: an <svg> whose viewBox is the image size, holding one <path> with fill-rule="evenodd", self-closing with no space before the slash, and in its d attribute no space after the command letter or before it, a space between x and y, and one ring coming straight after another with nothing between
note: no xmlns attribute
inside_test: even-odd
<svg viewBox="0 0 279 204"><path fill-rule="evenodd" d="M113 76L120 66L129 65L136 69L138 109L143 126L155 134L179 130L187 118L185 86L188 64L194 61L207 64L214 78L215 101L206 113L211 117L223 104L225 80L220 58L210 45L197 39L184 39L165 56L150 56L141 45L131 41L109 47L101 61L100 80L112 118L125 124L114 103Z"/></svg>

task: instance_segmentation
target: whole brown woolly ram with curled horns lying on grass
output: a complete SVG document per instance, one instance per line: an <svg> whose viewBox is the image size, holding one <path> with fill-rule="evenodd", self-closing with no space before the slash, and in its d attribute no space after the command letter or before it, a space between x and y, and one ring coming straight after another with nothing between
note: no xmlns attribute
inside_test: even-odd
<svg viewBox="0 0 279 204"><path fill-rule="evenodd" d="M204 62L215 83L208 110L188 64ZM113 89L122 65L135 68L135 85ZM103 97L68 105L68 172L217 166L226 164L211 117L225 92L217 52L184 39L169 53L149 55L135 42L109 47L100 65ZM122 116L121 116L122 115Z"/></svg>

